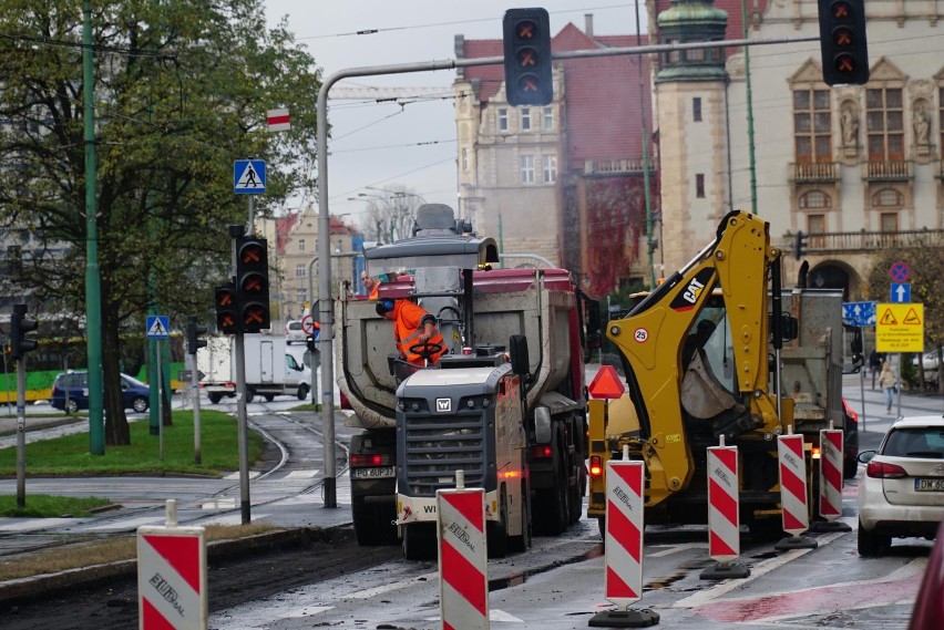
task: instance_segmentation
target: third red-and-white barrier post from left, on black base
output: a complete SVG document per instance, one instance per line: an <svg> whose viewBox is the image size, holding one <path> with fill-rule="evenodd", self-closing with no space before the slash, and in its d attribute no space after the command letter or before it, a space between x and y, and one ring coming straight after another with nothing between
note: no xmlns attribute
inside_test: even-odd
<svg viewBox="0 0 944 630"><path fill-rule="evenodd" d="M650 609L630 609L643 596L643 497L646 465L623 459L606 463L606 577L604 597L617 610L598 612L589 620L596 628L644 628L659 622Z"/></svg>

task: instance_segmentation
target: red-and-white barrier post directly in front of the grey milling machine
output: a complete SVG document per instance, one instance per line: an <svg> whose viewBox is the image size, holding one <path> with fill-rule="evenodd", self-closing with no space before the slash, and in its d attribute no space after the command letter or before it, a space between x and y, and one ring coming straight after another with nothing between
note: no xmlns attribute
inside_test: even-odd
<svg viewBox="0 0 944 630"><path fill-rule="evenodd" d="M437 490L440 616L443 630L488 630L489 551L485 541L485 490L465 488L455 473L455 489Z"/></svg>

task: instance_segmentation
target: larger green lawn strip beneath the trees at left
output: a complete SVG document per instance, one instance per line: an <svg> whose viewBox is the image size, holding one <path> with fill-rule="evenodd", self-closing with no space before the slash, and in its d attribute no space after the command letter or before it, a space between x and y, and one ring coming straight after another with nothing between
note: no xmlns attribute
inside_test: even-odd
<svg viewBox="0 0 944 630"><path fill-rule="evenodd" d="M239 469L236 421L218 411L201 412L201 465L194 464L194 423L192 411L174 412L174 424L164 427L164 459L160 442L151 435L146 421L133 422L131 444L105 448L104 455L89 453L88 433L43 440L27 445L27 474L35 475L126 475L193 473L218 475ZM263 438L249 432L249 461L263 452ZM0 476L17 474L17 448L0 450Z"/></svg>

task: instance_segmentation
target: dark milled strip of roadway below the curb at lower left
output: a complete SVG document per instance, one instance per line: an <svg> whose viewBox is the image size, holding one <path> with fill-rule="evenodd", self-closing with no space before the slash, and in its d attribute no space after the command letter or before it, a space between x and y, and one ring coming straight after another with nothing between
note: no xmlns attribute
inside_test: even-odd
<svg viewBox="0 0 944 630"><path fill-rule="evenodd" d="M399 547L365 552L351 527L311 530L301 541L255 550L242 557L207 561L209 611L263 599L278 592L355 574L401 557ZM29 599L0 603L3 630L104 630L137 628L137 576L107 583L35 592Z"/></svg>

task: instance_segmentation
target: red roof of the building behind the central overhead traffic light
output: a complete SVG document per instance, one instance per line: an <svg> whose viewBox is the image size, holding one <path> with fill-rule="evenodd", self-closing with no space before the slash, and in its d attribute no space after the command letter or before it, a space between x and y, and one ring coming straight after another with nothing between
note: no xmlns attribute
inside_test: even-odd
<svg viewBox="0 0 944 630"><path fill-rule="evenodd" d="M567 23L551 40L553 52L635 47L636 35L587 37ZM642 45L648 38L642 35ZM463 56L501 56L502 40L465 40ZM643 63L642 80L639 63ZM568 59L555 62L564 66L564 111L567 130L567 164L582 168L587 159L618 159L643 154L642 133L614 133L614 128L651 128L648 61L643 55ZM504 81L501 65L464 69L466 81L479 80L479 100L488 103ZM640 87L642 84L642 87ZM642 90L642 93L640 93Z"/></svg>

